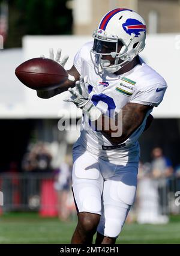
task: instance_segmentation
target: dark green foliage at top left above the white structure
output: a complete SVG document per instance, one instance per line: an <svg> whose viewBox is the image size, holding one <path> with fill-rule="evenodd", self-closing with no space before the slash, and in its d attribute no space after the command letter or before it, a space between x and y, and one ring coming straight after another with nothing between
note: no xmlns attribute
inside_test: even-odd
<svg viewBox="0 0 180 256"><path fill-rule="evenodd" d="M2 0L0 0L1 2ZM21 44L23 35L71 34L72 11L67 0L11 0L7 47Z"/></svg>

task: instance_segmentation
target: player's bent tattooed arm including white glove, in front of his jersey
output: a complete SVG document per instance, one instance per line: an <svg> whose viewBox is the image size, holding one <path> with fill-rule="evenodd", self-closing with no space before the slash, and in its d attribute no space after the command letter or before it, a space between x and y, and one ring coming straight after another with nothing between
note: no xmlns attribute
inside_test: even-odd
<svg viewBox="0 0 180 256"><path fill-rule="evenodd" d="M73 102L78 108L86 112L91 122L96 126L98 132L103 135L114 145L126 141L130 135L142 124L147 112L152 106L142 105L139 103L127 103L115 118L110 118L101 113L89 99L88 88L80 77L76 82L76 88L69 88L71 97L64 99L67 102ZM146 126L148 128L149 121Z"/></svg>

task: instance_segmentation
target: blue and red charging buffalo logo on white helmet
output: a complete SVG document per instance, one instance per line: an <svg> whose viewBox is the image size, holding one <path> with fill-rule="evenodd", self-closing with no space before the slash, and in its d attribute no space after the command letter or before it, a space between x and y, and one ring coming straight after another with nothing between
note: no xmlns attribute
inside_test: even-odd
<svg viewBox="0 0 180 256"><path fill-rule="evenodd" d="M127 34L131 35L134 33L136 37L140 35L140 32L146 32L146 25L136 19L127 19L126 22L122 24L122 27Z"/></svg>

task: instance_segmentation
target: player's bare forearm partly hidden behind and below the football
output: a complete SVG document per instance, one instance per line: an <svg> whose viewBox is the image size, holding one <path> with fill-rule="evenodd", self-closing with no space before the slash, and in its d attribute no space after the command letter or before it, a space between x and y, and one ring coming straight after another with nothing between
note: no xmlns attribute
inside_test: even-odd
<svg viewBox="0 0 180 256"><path fill-rule="evenodd" d="M61 84L58 88L49 91L37 91L37 96L43 99L49 99L53 96L56 96L64 91L67 91L68 88L73 88L75 86L76 81L79 80L79 72L77 71L76 67L71 67L70 70L67 70L68 73L68 80ZM73 81L74 80L74 81Z"/></svg>

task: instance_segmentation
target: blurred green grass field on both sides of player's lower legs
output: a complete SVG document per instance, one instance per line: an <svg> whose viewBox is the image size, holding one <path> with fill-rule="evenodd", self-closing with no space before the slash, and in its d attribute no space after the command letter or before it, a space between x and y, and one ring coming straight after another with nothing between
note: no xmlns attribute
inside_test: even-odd
<svg viewBox="0 0 180 256"><path fill-rule="evenodd" d="M70 243L76 221L40 218L36 213L8 213L0 216L2 243ZM125 224L116 243L180 243L180 216L166 225Z"/></svg>

